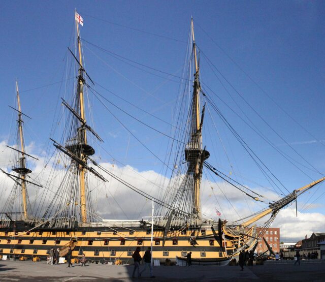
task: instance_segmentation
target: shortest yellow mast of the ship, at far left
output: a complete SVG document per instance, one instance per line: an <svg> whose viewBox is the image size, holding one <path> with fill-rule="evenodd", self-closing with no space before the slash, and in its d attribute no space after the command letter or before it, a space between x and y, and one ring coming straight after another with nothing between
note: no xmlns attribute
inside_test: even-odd
<svg viewBox="0 0 325 282"><path fill-rule="evenodd" d="M18 90L18 82L16 80L16 92L17 92L17 104L18 104L18 135L20 140L20 158L18 161L18 167L13 168L12 170L19 174L21 179L21 196L22 196L22 211L24 220L28 219L28 210L27 210L27 192L26 192L26 174L31 173L31 170L26 168L26 158L25 158L25 148L24 148L24 135L22 130L22 112L20 106L20 97Z"/></svg>

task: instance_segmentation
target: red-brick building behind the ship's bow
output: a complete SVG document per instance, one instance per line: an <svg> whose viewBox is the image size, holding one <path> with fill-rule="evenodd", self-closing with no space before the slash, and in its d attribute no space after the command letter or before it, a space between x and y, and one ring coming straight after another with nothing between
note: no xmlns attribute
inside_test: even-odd
<svg viewBox="0 0 325 282"><path fill-rule="evenodd" d="M257 254L262 254L268 249L262 238L265 238L274 253L280 252L280 228L256 228L256 231L261 236L256 247Z"/></svg>

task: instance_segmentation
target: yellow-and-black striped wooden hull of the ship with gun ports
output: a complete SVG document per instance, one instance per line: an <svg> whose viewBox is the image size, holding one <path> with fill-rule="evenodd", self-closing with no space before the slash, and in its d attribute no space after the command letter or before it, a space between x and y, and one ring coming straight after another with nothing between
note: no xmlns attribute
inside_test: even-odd
<svg viewBox="0 0 325 282"><path fill-rule="evenodd" d="M121 260L131 263L136 247L141 247L143 255L147 247L151 246L151 227L141 226L136 221L92 223L76 229L35 228L27 232L28 228L32 226L25 222L15 222L0 228L0 256L45 260L50 248L59 247L60 257L64 257L71 246L74 259L80 259L85 254L87 259L94 262ZM193 232L199 235L191 236ZM181 234L178 230L169 231L168 238L163 238L164 230L154 228L153 259L161 263L165 263L166 259L175 262L177 257L181 259L192 252L193 262L201 261L201 264L225 261L236 253L244 241L249 240L247 236L225 236L221 246L219 236L211 226L182 231Z"/></svg>

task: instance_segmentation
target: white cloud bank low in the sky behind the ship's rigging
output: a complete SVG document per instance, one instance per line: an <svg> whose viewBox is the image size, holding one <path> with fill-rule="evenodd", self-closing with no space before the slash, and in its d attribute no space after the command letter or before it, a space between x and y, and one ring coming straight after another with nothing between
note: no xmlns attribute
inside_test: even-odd
<svg viewBox="0 0 325 282"><path fill-rule="evenodd" d="M10 163L8 160L12 157L12 150L6 148L5 145L5 142L0 143L0 167L9 172ZM32 143L27 147L30 154L37 150L35 144ZM58 162L58 159L55 159L53 156L49 165L45 168L43 155L45 154L42 153L38 156L40 161L29 159L30 168L33 170L33 173L30 175L32 179L36 179L37 182L41 182L51 190L28 185L30 202L34 205L36 204L35 207L38 207L40 201L45 203L43 209L39 207L40 214L40 210L44 212L44 209L52 201L65 171L64 158L62 159L60 157L60 161ZM49 178L53 173L51 163L56 164L54 169L56 176L54 178ZM126 182L131 183L153 197L158 198L161 195L161 189L164 191L167 189L169 179L155 171L138 171L131 166L120 167L112 163L101 163L101 165L114 175L123 178ZM98 168L96 169L98 170ZM103 184L93 177L89 177L91 182L90 194L94 209L98 215L105 219L141 219L142 216L151 215L150 200L130 190L104 172L102 174L109 182ZM51 180L46 182L48 179ZM13 180L9 179L5 174L0 173L0 193L2 195L0 206L4 206L7 197L12 191L13 184ZM256 192L266 197L266 199L261 198L266 203L256 202L250 199L228 183L203 180L201 193L203 214L206 217L212 217L214 220L217 220L215 210L218 209L222 213L222 219L232 222L267 207L269 201L279 199L276 193L269 190L262 191L261 189L257 189ZM20 198L18 195L16 197L19 206ZM64 192L57 199L60 199L60 197L66 199L67 202L69 201L67 194L64 194ZM164 199L164 201L167 200ZM310 208L317 208L319 205L319 203L315 203ZM268 217L263 218L261 224L267 221L267 219ZM298 217L296 217L295 208L289 206L278 213L272 226L280 228L280 239L282 241L298 241L299 239L303 239L306 234L309 237L312 232L324 232L325 215L316 212L298 212Z"/></svg>

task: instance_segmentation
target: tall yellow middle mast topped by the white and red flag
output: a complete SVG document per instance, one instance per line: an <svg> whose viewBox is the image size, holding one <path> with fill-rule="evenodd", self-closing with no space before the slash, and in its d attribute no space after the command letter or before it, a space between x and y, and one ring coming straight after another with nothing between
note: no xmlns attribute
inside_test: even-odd
<svg viewBox="0 0 325 282"><path fill-rule="evenodd" d="M76 13L76 12L75 12ZM76 17L75 17L76 18ZM78 76L78 95L79 95L79 107L80 107L80 117L82 119L81 123L85 124L85 110L84 110L84 97L83 97L83 66L82 66L82 53L81 53L81 42L80 42L80 33L79 33L79 24L76 19L76 26L77 26L77 41L78 41L78 51L79 51L79 76ZM78 137L80 140L79 143L87 145L87 132L84 126L79 128L80 134ZM81 160L84 163L87 163L86 154L84 150L81 151L80 154ZM80 207L81 207L81 222L87 222L87 213L86 213L86 191L85 191L85 168L79 165L79 184L80 184Z"/></svg>

